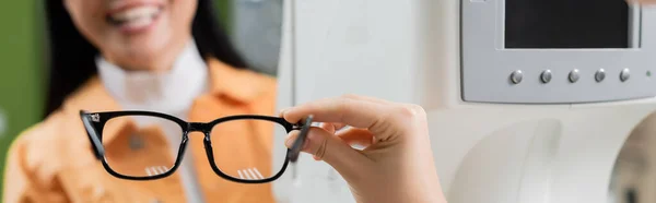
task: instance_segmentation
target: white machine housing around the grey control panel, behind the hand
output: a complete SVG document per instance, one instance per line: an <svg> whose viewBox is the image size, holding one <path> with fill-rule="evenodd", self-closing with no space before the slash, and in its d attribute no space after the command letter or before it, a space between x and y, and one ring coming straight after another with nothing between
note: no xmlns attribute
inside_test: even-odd
<svg viewBox="0 0 656 203"><path fill-rule="evenodd" d="M637 97L621 95L621 101L597 96L549 104L550 97L537 97L548 100L542 104L519 95L528 94L528 87L501 81L504 86L489 86L523 89L515 96L493 94L519 101L499 104L499 95L488 97L492 99L472 96L469 98L480 101L465 101L468 96L462 86L479 88L485 84L472 86L467 81L464 62L473 61L462 56L472 51L465 50L462 36L487 33L461 33L468 31L462 23L494 23L494 16L460 16L468 9L497 7L500 2L503 0L285 1L278 106L282 109L347 93L423 106L449 203L606 202L620 148L632 130L656 109L654 91L640 92ZM643 9L642 16L642 26L656 32L656 22L644 23L647 19L656 21L656 10ZM643 35L642 40L656 45L656 38L649 36ZM532 53L536 56L526 59L539 58L540 51ZM606 51L582 59L612 56ZM649 61L635 64L643 64L640 70L646 71L655 68L645 65ZM499 70L493 77L507 76L511 70ZM525 73L525 81L538 77L536 72ZM654 84L634 81L622 84ZM567 95L600 88L583 79L579 84ZM280 143L284 135L276 139ZM274 193L281 203L354 202L341 177L307 155L274 182Z"/></svg>

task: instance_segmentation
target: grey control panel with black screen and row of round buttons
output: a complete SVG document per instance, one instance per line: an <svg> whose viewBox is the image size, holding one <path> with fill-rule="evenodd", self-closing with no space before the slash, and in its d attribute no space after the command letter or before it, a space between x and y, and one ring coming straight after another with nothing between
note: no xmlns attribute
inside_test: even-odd
<svg viewBox="0 0 656 203"><path fill-rule="evenodd" d="M617 0L544 2L462 1L465 101L577 104L656 96L655 9Z"/></svg>

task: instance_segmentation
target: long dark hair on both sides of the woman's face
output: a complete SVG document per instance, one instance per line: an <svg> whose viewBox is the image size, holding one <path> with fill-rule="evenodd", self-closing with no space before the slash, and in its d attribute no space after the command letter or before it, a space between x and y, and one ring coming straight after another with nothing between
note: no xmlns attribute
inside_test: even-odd
<svg viewBox="0 0 656 203"><path fill-rule="evenodd" d="M63 7L63 0L45 0L48 31L49 81L45 116L61 107L66 97L96 74L95 57L98 50L75 28ZM212 0L198 0L191 34L203 57L213 57L235 68L246 62L231 45L219 24Z"/></svg>

